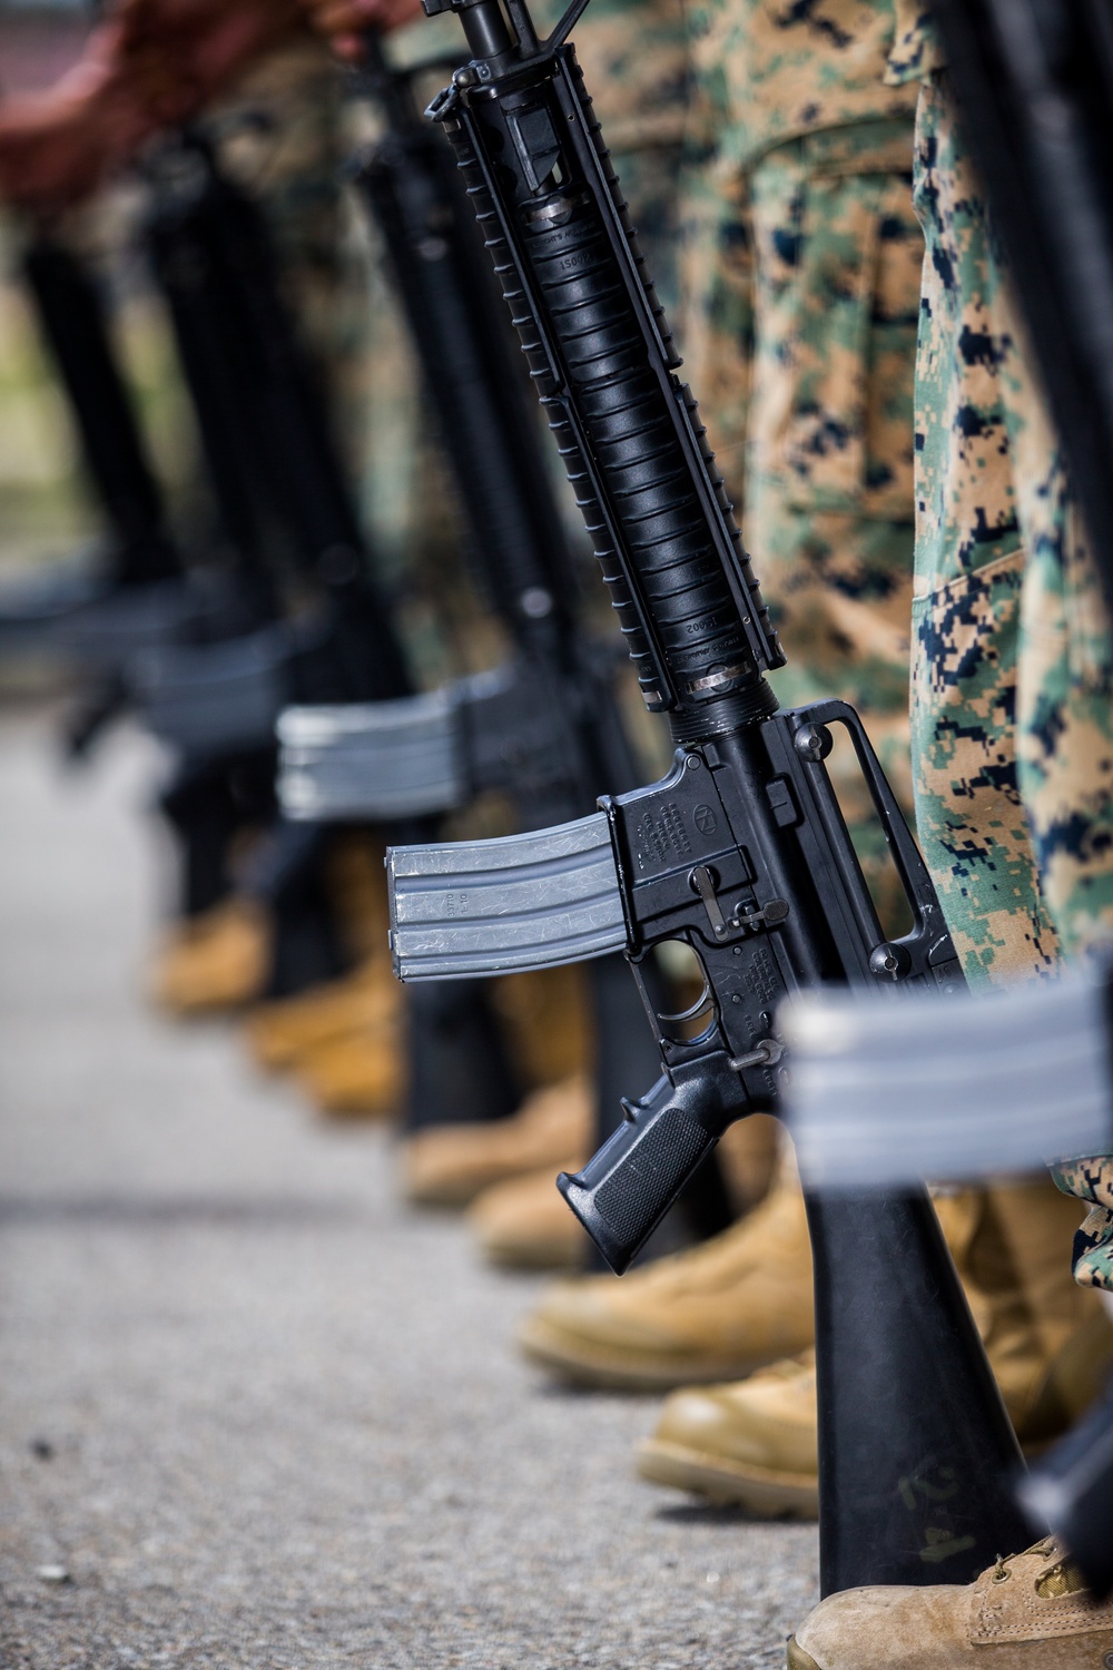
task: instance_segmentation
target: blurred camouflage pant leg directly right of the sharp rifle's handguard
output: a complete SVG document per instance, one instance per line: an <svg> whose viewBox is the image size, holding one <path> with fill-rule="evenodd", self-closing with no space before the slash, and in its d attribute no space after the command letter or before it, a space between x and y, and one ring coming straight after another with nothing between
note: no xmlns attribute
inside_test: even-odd
<svg viewBox="0 0 1113 1670"><path fill-rule="evenodd" d="M789 651L778 695L856 706L908 807L923 249L909 169L908 122L811 134L744 175L713 165L704 195L689 192L687 262L692 382ZM896 877L849 750L831 768L888 907Z"/></svg>

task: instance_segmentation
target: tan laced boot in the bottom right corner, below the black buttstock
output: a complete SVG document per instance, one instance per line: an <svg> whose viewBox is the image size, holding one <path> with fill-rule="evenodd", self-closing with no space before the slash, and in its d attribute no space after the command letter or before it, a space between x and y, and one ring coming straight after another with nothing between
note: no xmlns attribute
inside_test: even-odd
<svg viewBox="0 0 1113 1670"><path fill-rule="evenodd" d="M788 1643L788 1670L1103 1670L1113 1603L1095 1605L1053 1538L975 1583L848 1588Z"/></svg>

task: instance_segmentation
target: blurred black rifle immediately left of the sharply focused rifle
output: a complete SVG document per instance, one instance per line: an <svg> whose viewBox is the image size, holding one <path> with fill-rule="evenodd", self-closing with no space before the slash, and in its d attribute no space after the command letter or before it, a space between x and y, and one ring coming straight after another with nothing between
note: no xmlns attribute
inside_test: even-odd
<svg viewBox="0 0 1113 1670"><path fill-rule="evenodd" d="M365 37L360 84L387 132L360 159L354 182L384 239L464 508L472 571L516 650L512 666L457 686L456 701L444 693L436 710L451 733L454 763L464 767L442 775L441 808L496 787L514 802L522 828L562 823L591 810L602 790L629 788L639 778L616 703L614 655L576 618L577 586L541 456L537 414L452 152L421 120L410 75L390 68L374 33ZM365 805L397 797L414 762L432 757L431 706L422 698L409 710L370 713ZM414 713L422 715L421 750L414 748ZM347 767L349 738L342 730ZM304 785L304 767L299 775ZM427 778L414 783L419 795L431 787ZM350 795L350 777L344 792ZM592 962L591 994L597 1136L604 1141L621 1119L622 1092L656 1070L656 1045L622 957ZM659 982L654 995L662 1007ZM696 1176L682 1204L701 1234L729 1222L714 1164Z"/></svg>

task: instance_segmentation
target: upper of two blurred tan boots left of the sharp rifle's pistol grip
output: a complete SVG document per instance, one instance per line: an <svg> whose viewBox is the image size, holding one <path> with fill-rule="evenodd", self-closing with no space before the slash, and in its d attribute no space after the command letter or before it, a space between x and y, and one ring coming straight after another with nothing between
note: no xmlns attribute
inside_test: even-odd
<svg viewBox="0 0 1113 1670"><path fill-rule="evenodd" d="M507 1177L542 1167L556 1177L582 1162L592 1122L594 1099L577 1074L534 1091L512 1119L429 1126L402 1152L405 1194L421 1206L467 1206Z"/></svg>

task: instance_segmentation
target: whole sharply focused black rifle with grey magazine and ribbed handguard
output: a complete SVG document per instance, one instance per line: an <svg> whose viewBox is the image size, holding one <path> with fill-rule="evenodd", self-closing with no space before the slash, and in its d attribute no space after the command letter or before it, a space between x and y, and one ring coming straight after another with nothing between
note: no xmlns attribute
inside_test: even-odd
<svg viewBox="0 0 1113 1670"><path fill-rule="evenodd" d="M444 0L426 0L441 8ZM624 212L567 35L522 0L449 0L472 50L431 107L547 409L669 775L592 817L390 855L404 979L681 939L708 982L696 1037L656 1022L662 1077L562 1192L622 1269L739 1116L778 1102L781 994L959 985L914 842L844 703L779 713L783 655ZM914 927L888 942L824 768L843 725ZM926 1194L809 1199L816 1252L821 1581L966 1581L1023 1521L1016 1443Z"/></svg>

